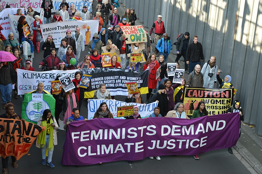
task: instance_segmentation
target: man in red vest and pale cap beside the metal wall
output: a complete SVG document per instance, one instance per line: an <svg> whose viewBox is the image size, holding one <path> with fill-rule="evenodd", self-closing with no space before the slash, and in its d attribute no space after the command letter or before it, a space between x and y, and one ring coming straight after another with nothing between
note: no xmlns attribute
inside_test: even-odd
<svg viewBox="0 0 262 174"><path fill-rule="evenodd" d="M151 36L154 28L155 28L155 52L156 52L156 56L158 57L159 52L157 50L157 42L159 39L163 38L163 34L165 33L165 25L164 22L162 21L161 15L157 16L157 20L153 23L149 36Z"/></svg>

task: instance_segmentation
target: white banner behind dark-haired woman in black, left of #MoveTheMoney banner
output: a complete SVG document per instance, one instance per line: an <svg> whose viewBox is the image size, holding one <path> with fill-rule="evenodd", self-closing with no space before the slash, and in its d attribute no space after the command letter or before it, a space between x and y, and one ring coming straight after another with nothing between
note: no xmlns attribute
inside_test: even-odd
<svg viewBox="0 0 262 174"><path fill-rule="evenodd" d="M25 16L25 17L26 17L26 22L28 23L28 26L30 27L31 24L34 22L34 18L32 18L30 16ZM9 14L10 29L11 29L11 32L14 33L14 38L16 38L17 40L19 39L19 33L17 31L17 25L18 25L18 19L19 18L20 18L20 16ZM30 28L30 31L32 32L32 28ZM7 37L6 37L6 39L7 39Z"/></svg>

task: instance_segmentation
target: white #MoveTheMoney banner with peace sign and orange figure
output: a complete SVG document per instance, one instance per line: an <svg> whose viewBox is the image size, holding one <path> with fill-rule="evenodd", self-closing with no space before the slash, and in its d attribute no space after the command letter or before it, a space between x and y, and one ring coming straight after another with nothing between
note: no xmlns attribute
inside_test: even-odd
<svg viewBox="0 0 262 174"><path fill-rule="evenodd" d="M74 21L63 21L54 22L50 24L41 25L41 32L44 40L51 34L55 43L55 47L59 48L61 40L65 38L66 30L71 30L71 34L76 31L76 27L80 27L80 32L83 34L84 44L87 45L89 40L93 39L93 35L98 31L98 20L74 20Z"/></svg>

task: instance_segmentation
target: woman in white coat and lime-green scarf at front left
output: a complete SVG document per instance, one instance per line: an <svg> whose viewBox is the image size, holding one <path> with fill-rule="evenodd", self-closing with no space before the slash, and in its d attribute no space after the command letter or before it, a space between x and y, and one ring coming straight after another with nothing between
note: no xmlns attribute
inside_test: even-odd
<svg viewBox="0 0 262 174"><path fill-rule="evenodd" d="M45 130L41 132L36 139L36 147L42 150L42 165L46 164L45 154L46 151L48 151L47 165L53 168L55 165L53 165L51 161L54 146L57 145L56 130L58 129L58 125L49 109L44 111L43 116L38 119L37 125L45 127Z"/></svg>

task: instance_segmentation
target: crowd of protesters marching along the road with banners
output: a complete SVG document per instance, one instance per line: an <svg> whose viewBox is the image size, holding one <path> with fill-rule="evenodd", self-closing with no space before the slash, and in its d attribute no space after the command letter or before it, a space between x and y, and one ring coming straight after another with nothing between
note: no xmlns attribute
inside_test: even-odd
<svg viewBox="0 0 262 174"><path fill-rule="evenodd" d="M232 78L226 75L224 79L221 79L219 74L222 72L218 65L216 64L216 57L211 56L210 59L203 65L201 69L201 61L204 60L203 48L201 43L198 42L198 36L193 36L193 42L189 43L190 33L185 32L180 34L177 41L174 43L176 45L176 61L168 61L168 56L171 53L172 42L168 35L164 22L162 21L162 16L158 15L157 20L153 22L150 32L145 30L147 34L147 42L135 43L132 47L131 44L127 44L124 32L121 30L121 26L134 26L137 20L137 16L134 8L126 8L122 18L117 13L117 7L119 7L117 1L109 0L99 3L96 6L96 11L92 16L92 8L87 11L87 7L83 6L81 11L77 11L74 5L66 3L65 0L62 1L60 5L60 11L57 11L52 17L53 1L43 0L41 7L44 9L44 21L42 22L39 17L39 13L32 9L27 8L25 15L31 16L35 19L28 29L31 33L28 36L24 36L23 29L24 25L27 24L24 15L22 15L22 8L17 11L16 15L19 15L17 31L19 32L19 42L14 38L12 32L9 33L7 40L5 41L5 47L3 50L10 54L13 54L17 60L13 62L1 62L0 63L0 91L3 100L2 108L6 110L6 113L1 115L1 118L13 118L22 119L19 115L15 114L14 105L11 104L11 94L12 87L15 85L14 98L18 99L18 88L17 88L17 69L25 69L29 71L34 71L32 68L34 50L39 53L40 42L42 39L40 26L52 22L63 22L70 20L98 20L99 27L98 31L93 35L93 38L88 42L88 45L84 45L83 35L80 32L80 27L77 26L75 32L67 30L64 38L61 40L61 45L58 49L55 48L53 42L53 36L49 35L41 49L44 51L43 60L39 62L38 67L47 67L49 69L58 70L71 70L71 69L85 69L85 68L101 68L103 67L101 63L101 53L104 53L102 47L106 47L108 52L114 50L120 54L122 63L117 62L117 57L111 57L111 68L119 69L131 69L136 71L149 71L148 79L148 94L146 99L142 99L140 92L138 94L130 95L126 97L126 103L138 103L138 104L149 104L153 102L158 102L157 107L154 109L154 113L150 117L173 117L173 118L183 118L190 119L184 111L184 103L182 100L182 94L185 87L205 87L214 88L217 82L219 83L219 88L226 88L234 86L231 83ZM25 9L26 10L26 9ZM112 12L111 12L112 11ZM154 31L155 30L155 31ZM152 38L152 33L154 31L154 44L155 53L150 54L150 41ZM145 64L142 67L141 63L131 63L129 53L137 50L139 44L145 45L145 50L143 50L145 57ZM81 52L88 49L89 55L81 56ZM20 56L21 55L21 56ZM185 63L185 73L188 74L188 78L182 81L182 84L173 84L173 77L167 76L167 62L176 63L176 68L179 68L178 60L180 57L184 58ZM76 64L72 65L70 60L76 59ZM34 62L35 63L35 62ZM156 78L157 69L161 67L161 73L159 78ZM189 69L188 69L189 68ZM57 144L56 130L59 125L59 114L63 113L64 119L64 129L66 130L70 122L85 120L80 116L80 111L82 104L84 103L84 91L86 89L79 88L79 82L82 77L80 71L76 72L74 75L74 86L75 88L60 94L53 94L55 103L55 119L50 110L45 110L43 116L38 120L38 125L47 126L41 135L38 136L36 140L36 146L42 149L42 164L46 164L45 152L48 149L48 159L47 165L50 167L55 167L52 164L52 154L54 146ZM157 79L157 80L156 80ZM58 77L56 78L58 80ZM88 84L89 86L89 84ZM63 86L62 86L63 87ZM36 90L31 93L42 93L49 94L48 91L43 90L44 84L39 83ZM93 99L107 99L112 100L114 96L111 96L110 91L106 89L105 84L100 84L99 88L94 92ZM87 107L89 99L86 99L85 105ZM193 113L192 119L202 116L210 116L207 113L204 102L199 102L197 108L193 108L195 111ZM228 109L228 113L239 112L241 115L241 120L243 120L243 111L240 107L240 101L236 100L232 107ZM144 115L142 117L145 117ZM109 110L105 102L101 103L99 109L96 111L94 118L113 118L111 111ZM134 114L132 116L126 117L126 119L141 119L141 115L138 113L138 107L134 106ZM23 119L22 119L23 120ZM54 137L53 141L52 138ZM228 151L232 153L232 149L229 148ZM150 157L153 159L154 157ZM194 155L195 159L199 159L198 154ZM12 164L16 168L18 167L15 159L12 159ZM160 160L160 156L156 156L157 160ZM3 173L6 172L8 158L2 158L3 161ZM132 163L132 161L128 161Z"/></svg>

